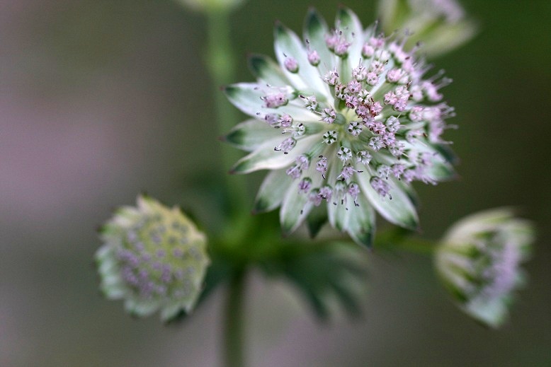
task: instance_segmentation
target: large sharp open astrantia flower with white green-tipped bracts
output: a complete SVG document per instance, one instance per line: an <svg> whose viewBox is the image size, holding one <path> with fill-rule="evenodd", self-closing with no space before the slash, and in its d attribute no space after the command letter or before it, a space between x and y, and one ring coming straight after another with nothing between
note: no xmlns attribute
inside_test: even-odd
<svg viewBox="0 0 551 367"><path fill-rule="evenodd" d="M309 11L304 41L275 25L275 56L249 59L256 83L227 86L253 119L226 136L250 151L234 173L271 170L256 211L281 207L285 233L315 209L332 226L370 245L376 209L405 228L418 226L411 182L453 175L441 134L453 109L442 101L441 73L402 47L405 39L364 29L339 9L330 29ZM312 217L311 217L312 218Z"/></svg>

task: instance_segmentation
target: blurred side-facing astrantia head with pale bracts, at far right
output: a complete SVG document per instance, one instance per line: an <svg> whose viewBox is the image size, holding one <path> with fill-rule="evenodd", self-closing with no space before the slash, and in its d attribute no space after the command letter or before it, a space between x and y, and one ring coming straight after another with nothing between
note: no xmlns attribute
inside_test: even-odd
<svg viewBox="0 0 551 367"><path fill-rule="evenodd" d="M462 310L498 327L523 284L519 267L532 242L532 224L510 209L484 211L450 228L436 251L436 269Z"/></svg>

